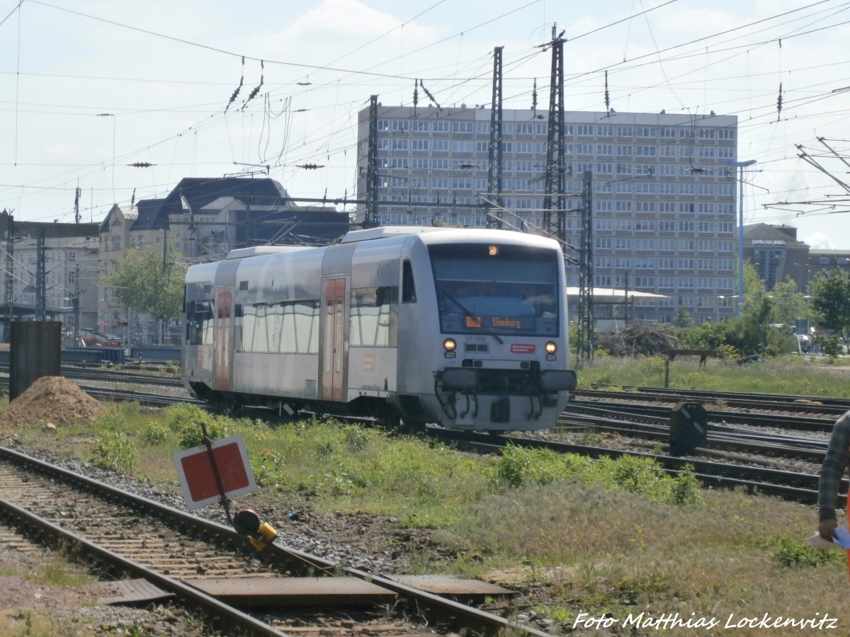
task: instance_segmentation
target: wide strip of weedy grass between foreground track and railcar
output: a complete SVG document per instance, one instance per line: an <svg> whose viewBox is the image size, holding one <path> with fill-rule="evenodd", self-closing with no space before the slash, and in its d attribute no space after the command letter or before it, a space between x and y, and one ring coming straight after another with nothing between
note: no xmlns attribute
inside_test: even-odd
<svg viewBox="0 0 850 637"><path fill-rule="evenodd" d="M544 586L551 601L533 610L551 620L548 630L556 634L570 632L582 612L620 618L678 612L720 621L730 614L828 613L838 618L838 633L850 629L844 552L815 552L803 542L816 525L813 506L701 489L693 476L672 479L643 460L521 448L477 456L334 420L271 427L185 406L162 412L116 406L94 426L15 433L27 444L89 461L111 459L113 468L174 485L171 454L196 440L201 422L218 436L245 438L265 499L289 503L308 495L316 512L360 511L433 528L434 541L447 550L416 558L417 572ZM116 438L123 447L103 442ZM765 633L738 628L734 634Z"/></svg>

